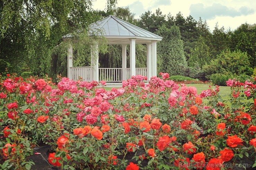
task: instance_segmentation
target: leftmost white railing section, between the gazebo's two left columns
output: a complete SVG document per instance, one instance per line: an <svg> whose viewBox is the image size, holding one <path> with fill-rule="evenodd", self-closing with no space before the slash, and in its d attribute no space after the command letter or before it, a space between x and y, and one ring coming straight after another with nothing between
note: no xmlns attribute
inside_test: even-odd
<svg viewBox="0 0 256 170"><path fill-rule="evenodd" d="M92 67L70 67L72 80L78 80L80 77L83 81L92 81Z"/></svg>

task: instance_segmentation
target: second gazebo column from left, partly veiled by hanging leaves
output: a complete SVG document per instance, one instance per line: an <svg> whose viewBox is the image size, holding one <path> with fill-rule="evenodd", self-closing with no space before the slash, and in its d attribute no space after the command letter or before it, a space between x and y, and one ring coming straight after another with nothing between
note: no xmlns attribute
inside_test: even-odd
<svg viewBox="0 0 256 170"><path fill-rule="evenodd" d="M91 67L92 80L99 81L99 49L97 41L93 41L93 44L91 45Z"/></svg>

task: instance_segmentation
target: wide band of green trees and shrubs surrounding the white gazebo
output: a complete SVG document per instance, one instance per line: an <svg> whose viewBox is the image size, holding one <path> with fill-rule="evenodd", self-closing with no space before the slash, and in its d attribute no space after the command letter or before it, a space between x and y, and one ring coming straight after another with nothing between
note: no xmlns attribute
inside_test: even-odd
<svg viewBox="0 0 256 170"><path fill-rule="evenodd" d="M88 66L88 25L112 14L163 37L157 43L158 73L168 72L170 75L200 80L216 77L212 74L253 74L252 70L256 67L256 24L244 23L230 30L219 28L217 23L211 31L206 20L199 18L196 21L192 16L184 17L181 12L176 16L171 13L164 15L159 8L155 12L145 11L139 19L135 19L129 7L115 8L116 3L116 0L108 0L106 9L99 11L92 9L90 0L1 1L0 73L16 72L21 75L22 72L31 72L39 76L66 76L67 44L62 36L68 33L80 38L74 43L73 65ZM136 44L136 49L136 67L146 67L146 45ZM100 51L100 67L121 68L121 46L105 45ZM224 61L222 57L229 54L234 54L236 58ZM230 68L215 71L204 69L216 69L214 64L217 61L227 62Z"/></svg>

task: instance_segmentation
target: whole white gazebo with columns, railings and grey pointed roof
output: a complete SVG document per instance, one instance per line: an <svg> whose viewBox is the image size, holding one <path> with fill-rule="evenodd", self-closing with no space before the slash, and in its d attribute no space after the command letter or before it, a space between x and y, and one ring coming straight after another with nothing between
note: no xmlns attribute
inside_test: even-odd
<svg viewBox="0 0 256 170"><path fill-rule="evenodd" d="M109 44L122 45L122 68L99 68L98 42L91 47L91 66L73 67L73 48L70 44L67 55L67 77L77 80L82 77L85 81L122 82L134 75L147 76L148 80L156 76L156 42L162 37L141 29L133 24L114 16L108 16L90 24L91 33L98 31L99 36L107 38ZM67 41L72 38L69 34L63 36ZM126 68L126 46L130 44L130 68ZM147 68L135 68L135 44L147 45Z"/></svg>

